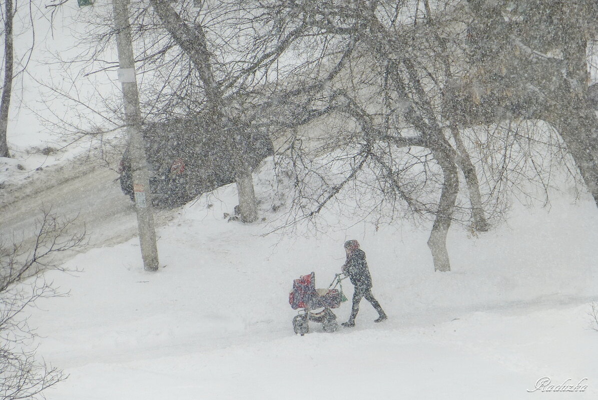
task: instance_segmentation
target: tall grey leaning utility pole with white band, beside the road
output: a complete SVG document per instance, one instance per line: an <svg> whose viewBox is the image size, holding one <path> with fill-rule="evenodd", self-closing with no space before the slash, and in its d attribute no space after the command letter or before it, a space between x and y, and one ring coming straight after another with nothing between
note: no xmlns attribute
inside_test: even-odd
<svg viewBox="0 0 598 400"><path fill-rule="evenodd" d="M128 0L112 0L114 25L117 30L118 81L123 88L124 119L129 137L129 155L135 192L135 211L139 227L139 244L144 269L158 270L158 248L155 242L154 216L149 190L149 171L145 158L145 147L141 137L141 111L139 110L139 92L135 78L135 59L129 24Z"/></svg>

